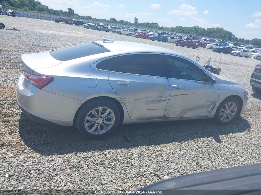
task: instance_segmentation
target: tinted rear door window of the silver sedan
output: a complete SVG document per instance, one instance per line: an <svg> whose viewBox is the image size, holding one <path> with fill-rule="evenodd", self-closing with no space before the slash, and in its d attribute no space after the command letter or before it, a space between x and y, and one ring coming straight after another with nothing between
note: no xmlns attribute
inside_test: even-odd
<svg viewBox="0 0 261 195"><path fill-rule="evenodd" d="M112 71L166 77L163 55L131 54L118 56Z"/></svg>

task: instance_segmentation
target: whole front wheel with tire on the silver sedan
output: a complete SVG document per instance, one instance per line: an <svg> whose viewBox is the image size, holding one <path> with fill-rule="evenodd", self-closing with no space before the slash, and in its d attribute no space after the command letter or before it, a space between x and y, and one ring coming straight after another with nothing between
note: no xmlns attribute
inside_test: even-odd
<svg viewBox="0 0 261 195"><path fill-rule="evenodd" d="M238 115L240 104L236 98L226 98L217 107L214 120L216 123L225 125L235 120Z"/></svg>

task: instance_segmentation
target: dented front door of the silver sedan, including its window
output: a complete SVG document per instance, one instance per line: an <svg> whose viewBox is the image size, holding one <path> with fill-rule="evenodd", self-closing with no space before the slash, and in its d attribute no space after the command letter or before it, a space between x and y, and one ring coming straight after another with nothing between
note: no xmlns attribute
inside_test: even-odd
<svg viewBox="0 0 261 195"><path fill-rule="evenodd" d="M219 95L218 84L208 83L209 75L192 61L173 55L165 59L170 83L166 117L209 116Z"/></svg>

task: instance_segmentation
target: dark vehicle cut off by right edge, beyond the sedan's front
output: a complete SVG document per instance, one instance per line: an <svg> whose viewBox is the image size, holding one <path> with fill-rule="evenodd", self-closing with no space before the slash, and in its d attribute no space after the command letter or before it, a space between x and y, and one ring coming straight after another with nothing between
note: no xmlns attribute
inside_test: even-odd
<svg viewBox="0 0 261 195"><path fill-rule="evenodd" d="M254 72L251 74L250 85L254 93L261 94L261 63L255 65Z"/></svg>

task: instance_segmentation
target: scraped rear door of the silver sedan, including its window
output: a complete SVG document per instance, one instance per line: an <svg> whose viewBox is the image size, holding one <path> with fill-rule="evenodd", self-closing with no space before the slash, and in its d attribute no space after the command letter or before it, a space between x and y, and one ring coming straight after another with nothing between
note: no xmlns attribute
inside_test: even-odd
<svg viewBox="0 0 261 195"><path fill-rule="evenodd" d="M163 54L117 56L109 83L131 120L164 118L170 86Z"/></svg>

